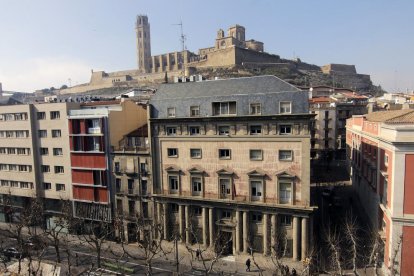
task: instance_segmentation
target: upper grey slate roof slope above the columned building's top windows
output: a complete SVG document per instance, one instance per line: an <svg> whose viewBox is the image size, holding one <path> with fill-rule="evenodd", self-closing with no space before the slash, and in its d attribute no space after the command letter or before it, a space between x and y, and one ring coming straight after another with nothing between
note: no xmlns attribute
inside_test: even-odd
<svg viewBox="0 0 414 276"><path fill-rule="evenodd" d="M151 100L157 101L177 98L182 99L206 96L267 94L296 91L301 90L275 76L256 76L208 80L201 82L162 84Z"/></svg>

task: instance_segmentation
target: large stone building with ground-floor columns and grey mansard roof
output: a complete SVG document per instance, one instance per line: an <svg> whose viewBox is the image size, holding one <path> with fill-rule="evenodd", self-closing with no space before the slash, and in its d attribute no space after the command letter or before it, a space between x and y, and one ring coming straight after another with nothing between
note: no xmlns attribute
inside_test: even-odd
<svg viewBox="0 0 414 276"><path fill-rule="evenodd" d="M164 237L269 254L283 234L287 255L306 257L314 210L307 92L274 76L165 84L150 108Z"/></svg>

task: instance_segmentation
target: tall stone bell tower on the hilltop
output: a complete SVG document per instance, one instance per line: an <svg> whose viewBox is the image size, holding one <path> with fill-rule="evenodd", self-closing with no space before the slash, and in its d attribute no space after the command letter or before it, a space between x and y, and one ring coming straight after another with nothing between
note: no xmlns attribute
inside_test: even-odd
<svg viewBox="0 0 414 276"><path fill-rule="evenodd" d="M146 15L138 15L135 25L137 31L138 69L151 72L151 35L150 24Z"/></svg>

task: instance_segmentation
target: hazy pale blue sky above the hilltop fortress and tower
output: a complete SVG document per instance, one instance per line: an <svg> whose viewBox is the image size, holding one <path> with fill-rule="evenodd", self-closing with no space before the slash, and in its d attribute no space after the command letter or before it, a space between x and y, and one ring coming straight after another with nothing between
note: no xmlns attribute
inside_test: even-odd
<svg viewBox="0 0 414 276"><path fill-rule="evenodd" d="M413 90L413 13L412 0L0 0L0 82L31 92L134 69L135 19L146 14L153 55L181 49L180 20L191 51L237 23L269 53L354 64L387 90Z"/></svg>

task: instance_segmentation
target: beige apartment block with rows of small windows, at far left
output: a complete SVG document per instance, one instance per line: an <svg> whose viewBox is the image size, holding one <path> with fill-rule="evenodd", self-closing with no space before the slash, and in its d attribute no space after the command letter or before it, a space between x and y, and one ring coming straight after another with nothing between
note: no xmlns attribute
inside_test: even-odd
<svg viewBox="0 0 414 276"><path fill-rule="evenodd" d="M2 203L25 208L44 199L47 225L61 200L71 199L67 114L77 103L0 107L0 193ZM6 203L6 201L9 201ZM1 221L12 221L4 210Z"/></svg>

